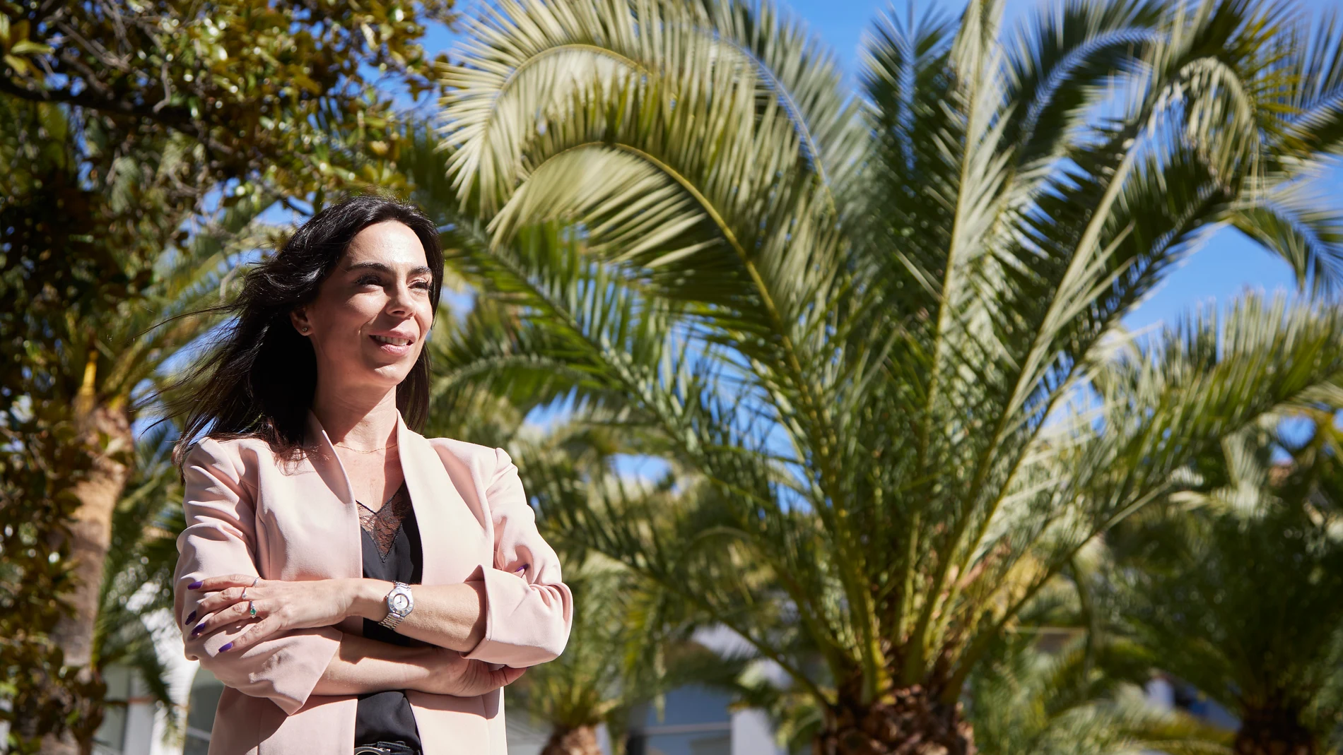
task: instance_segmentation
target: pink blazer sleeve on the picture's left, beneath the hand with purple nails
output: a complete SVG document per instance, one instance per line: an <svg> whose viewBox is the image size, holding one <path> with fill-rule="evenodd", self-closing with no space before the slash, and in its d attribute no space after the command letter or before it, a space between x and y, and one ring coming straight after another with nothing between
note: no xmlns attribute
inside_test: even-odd
<svg viewBox="0 0 1343 755"><path fill-rule="evenodd" d="M255 502L243 483L236 452L215 440L201 441L183 464L187 527L177 536L173 606L177 621L196 609L205 594L187 585L223 574L258 574ZM267 697L293 715L312 693L340 648L334 626L290 630L262 640L243 652L219 652L250 626L226 626L205 637L189 638L191 626L179 626L189 660L200 658L227 687L252 697Z"/></svg>

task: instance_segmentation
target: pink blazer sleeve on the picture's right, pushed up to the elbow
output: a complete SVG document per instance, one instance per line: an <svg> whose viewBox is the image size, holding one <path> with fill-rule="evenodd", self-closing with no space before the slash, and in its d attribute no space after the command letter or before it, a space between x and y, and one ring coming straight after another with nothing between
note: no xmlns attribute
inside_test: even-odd
<svg viewBox="0 0 1343 755"><path fill-rule="evenodd" d="M560 559L536 530L517 467L494 449L496 468L486 484L494 522L494 567L485 579L485 637L467 658L513 668L555 660L573 621L573 595L560 577Z"/></svg>

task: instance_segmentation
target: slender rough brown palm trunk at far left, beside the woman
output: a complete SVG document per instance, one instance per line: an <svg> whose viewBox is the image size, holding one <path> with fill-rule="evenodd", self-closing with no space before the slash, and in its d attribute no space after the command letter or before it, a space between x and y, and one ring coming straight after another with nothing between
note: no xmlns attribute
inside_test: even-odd
<svg viewBox="0 0 1343 755"><path fill-rule="evenodd" d="M102 723L103 689L98 669L93 666L94 628L98 621L98 595L102 589L102 566L111 544L111 515L126 487L130 465L126 461L134 439L125 412L93 406L78 412L82 429L79 443L87 456L87 469L66 491L78 502L68 535L64 535L74 563L70 591L63 595L73 612L51 630L51 641L63 653L63 666L74 671L74 684L54 693L66 697L74 724L59 734L43 738L42 752L48 755L86 755L93 748L93 735Z"/></svg>

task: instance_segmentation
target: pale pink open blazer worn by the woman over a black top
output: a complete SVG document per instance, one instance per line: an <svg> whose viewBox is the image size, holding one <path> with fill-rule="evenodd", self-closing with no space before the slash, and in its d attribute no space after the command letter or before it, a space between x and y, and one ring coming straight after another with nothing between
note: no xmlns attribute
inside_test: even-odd
<svg viewBox="0 0 1343 755"><path fill-rule="evenodd" d="M363 575L359 514L330 439L309 413L309 453L279 461L261 440L204 440L187 456L187 528L177 538L179 621L196 606L187 585L220 574L263 579ZM537 534L517 467L501 449L426 439L398 418L398 448L424 553L423 583L485 582L485 638L466 654L514 668L549 661L569 634L572 595ZM352 617L291 630L240 652L227 628L188 640L188 658L224 683L211 755L352 752L356 697L313 695ZM424 755L506 755L504 700L408 692Z"/></svg>

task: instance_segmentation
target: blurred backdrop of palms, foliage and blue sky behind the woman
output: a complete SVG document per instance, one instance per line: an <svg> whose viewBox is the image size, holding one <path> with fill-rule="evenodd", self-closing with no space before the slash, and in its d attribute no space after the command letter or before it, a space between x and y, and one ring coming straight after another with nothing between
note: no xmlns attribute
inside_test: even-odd
<svg viewBox="0 0 1343 755"><path fill-rule="evenodd" d="M0 0L0 751L208 752L165 408L357 192L575 590L510 752L1343 751L1335 5Z"/></svg>

